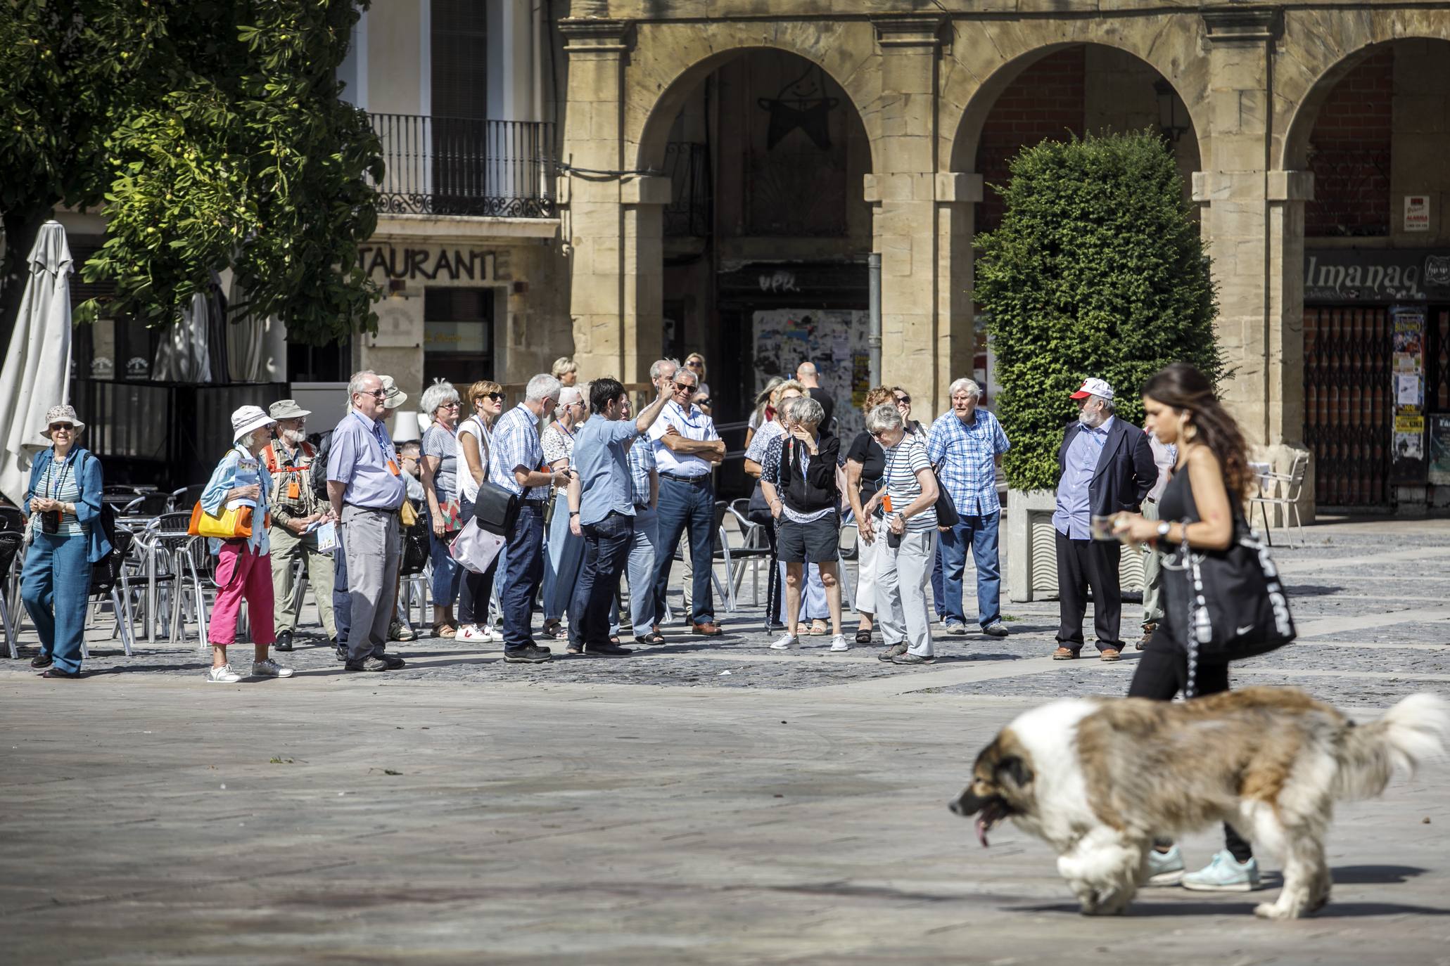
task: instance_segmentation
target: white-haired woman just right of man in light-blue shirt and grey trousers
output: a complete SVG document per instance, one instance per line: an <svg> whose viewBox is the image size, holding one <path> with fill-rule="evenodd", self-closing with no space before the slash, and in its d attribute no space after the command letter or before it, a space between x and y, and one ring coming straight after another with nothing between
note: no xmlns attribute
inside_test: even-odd
<svg viewBox="0 0 1450 966"><path fill-rule="evenodd" d="M428 553L434 563L434 637L454 637L458 624L452 604L458 597L463 568L450 553L452 539L463 529L458 503L458 411L461 403L452 382L435 381L423 390L419 403L434 424L423 432L423 458L418 463L423 484L423 513L428 517Z"/></svg>

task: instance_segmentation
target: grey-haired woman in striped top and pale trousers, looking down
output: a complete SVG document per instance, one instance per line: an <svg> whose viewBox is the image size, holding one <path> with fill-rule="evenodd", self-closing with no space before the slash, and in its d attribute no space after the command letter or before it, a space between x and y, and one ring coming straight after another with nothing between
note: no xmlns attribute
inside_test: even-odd
<svg viewBox="0 0 1450 966"><path fill-rule="evenodd" d="M886 650L882 660L929 665L931 624L927 581L937 553L937 476L921 433L908 433L900 411L877 406L866 416L866 432L886 453L882 488L866 504L867 516L883 511L886 543L877 550L877 623Z"/></svg>

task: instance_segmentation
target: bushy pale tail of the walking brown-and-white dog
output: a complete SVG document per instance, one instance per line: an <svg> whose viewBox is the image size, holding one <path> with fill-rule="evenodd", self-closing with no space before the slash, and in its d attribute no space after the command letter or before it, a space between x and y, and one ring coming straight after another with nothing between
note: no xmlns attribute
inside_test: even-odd
<svg viewBox="0 0 1450 966"><path fill-rule="evenodd" d="M1422 760L1444 752L1447 736L1450 701L1433 694L1412 694L1380 720L1347 728L1338 753L1334 797L1379 795L1396 765L1414 773Z"/></svg>

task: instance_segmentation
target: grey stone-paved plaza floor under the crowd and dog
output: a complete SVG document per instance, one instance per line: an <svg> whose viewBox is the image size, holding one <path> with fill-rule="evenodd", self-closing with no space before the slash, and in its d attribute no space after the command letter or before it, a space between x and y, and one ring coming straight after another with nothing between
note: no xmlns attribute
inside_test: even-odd
<svg viewBox="0 0 1450 966"><path fill-rule="evenodd" d="M1450 695L1450 521L1320 524L1275 559L1301 640L1235 686L1357 717ZM1056 602L1003 611L1011 637L938 637L925 668L771 652L747 604L628 659L425 639L384 675L312 627L294 678L238 685L203 681L194 633L125 658L104 621L84 681L42 681L28 629L0 660L0 959L1450 963L1444 762L1338 808L1334 898L1298 923L1180 889L1085 918L1043 843L983 850L945 808L982 744L1135 663L1054 662ZM1186 840L1190 866L1218 844Z"/></svg>

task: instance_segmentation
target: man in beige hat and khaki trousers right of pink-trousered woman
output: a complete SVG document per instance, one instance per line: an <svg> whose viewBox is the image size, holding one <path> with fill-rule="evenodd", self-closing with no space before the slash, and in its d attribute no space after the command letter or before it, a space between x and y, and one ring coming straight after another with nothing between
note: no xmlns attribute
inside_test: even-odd
<svg viewBox="0 0 1450 966"><path fill-rule="evenodd" d="M318 453L307 439L309 410L296 400L278 400L268 408L277 420L277 437L262 450L262 462L271 472L271 537L273 608L277 624L277 650L291 650L291 633L297 626L302 600L293 604L294 563L306 560L307 582L318 601L318 614L328 639L338 636L332 620L332 555L318 547L318 532L332 514L312 488L312 461Z"/></svg>

